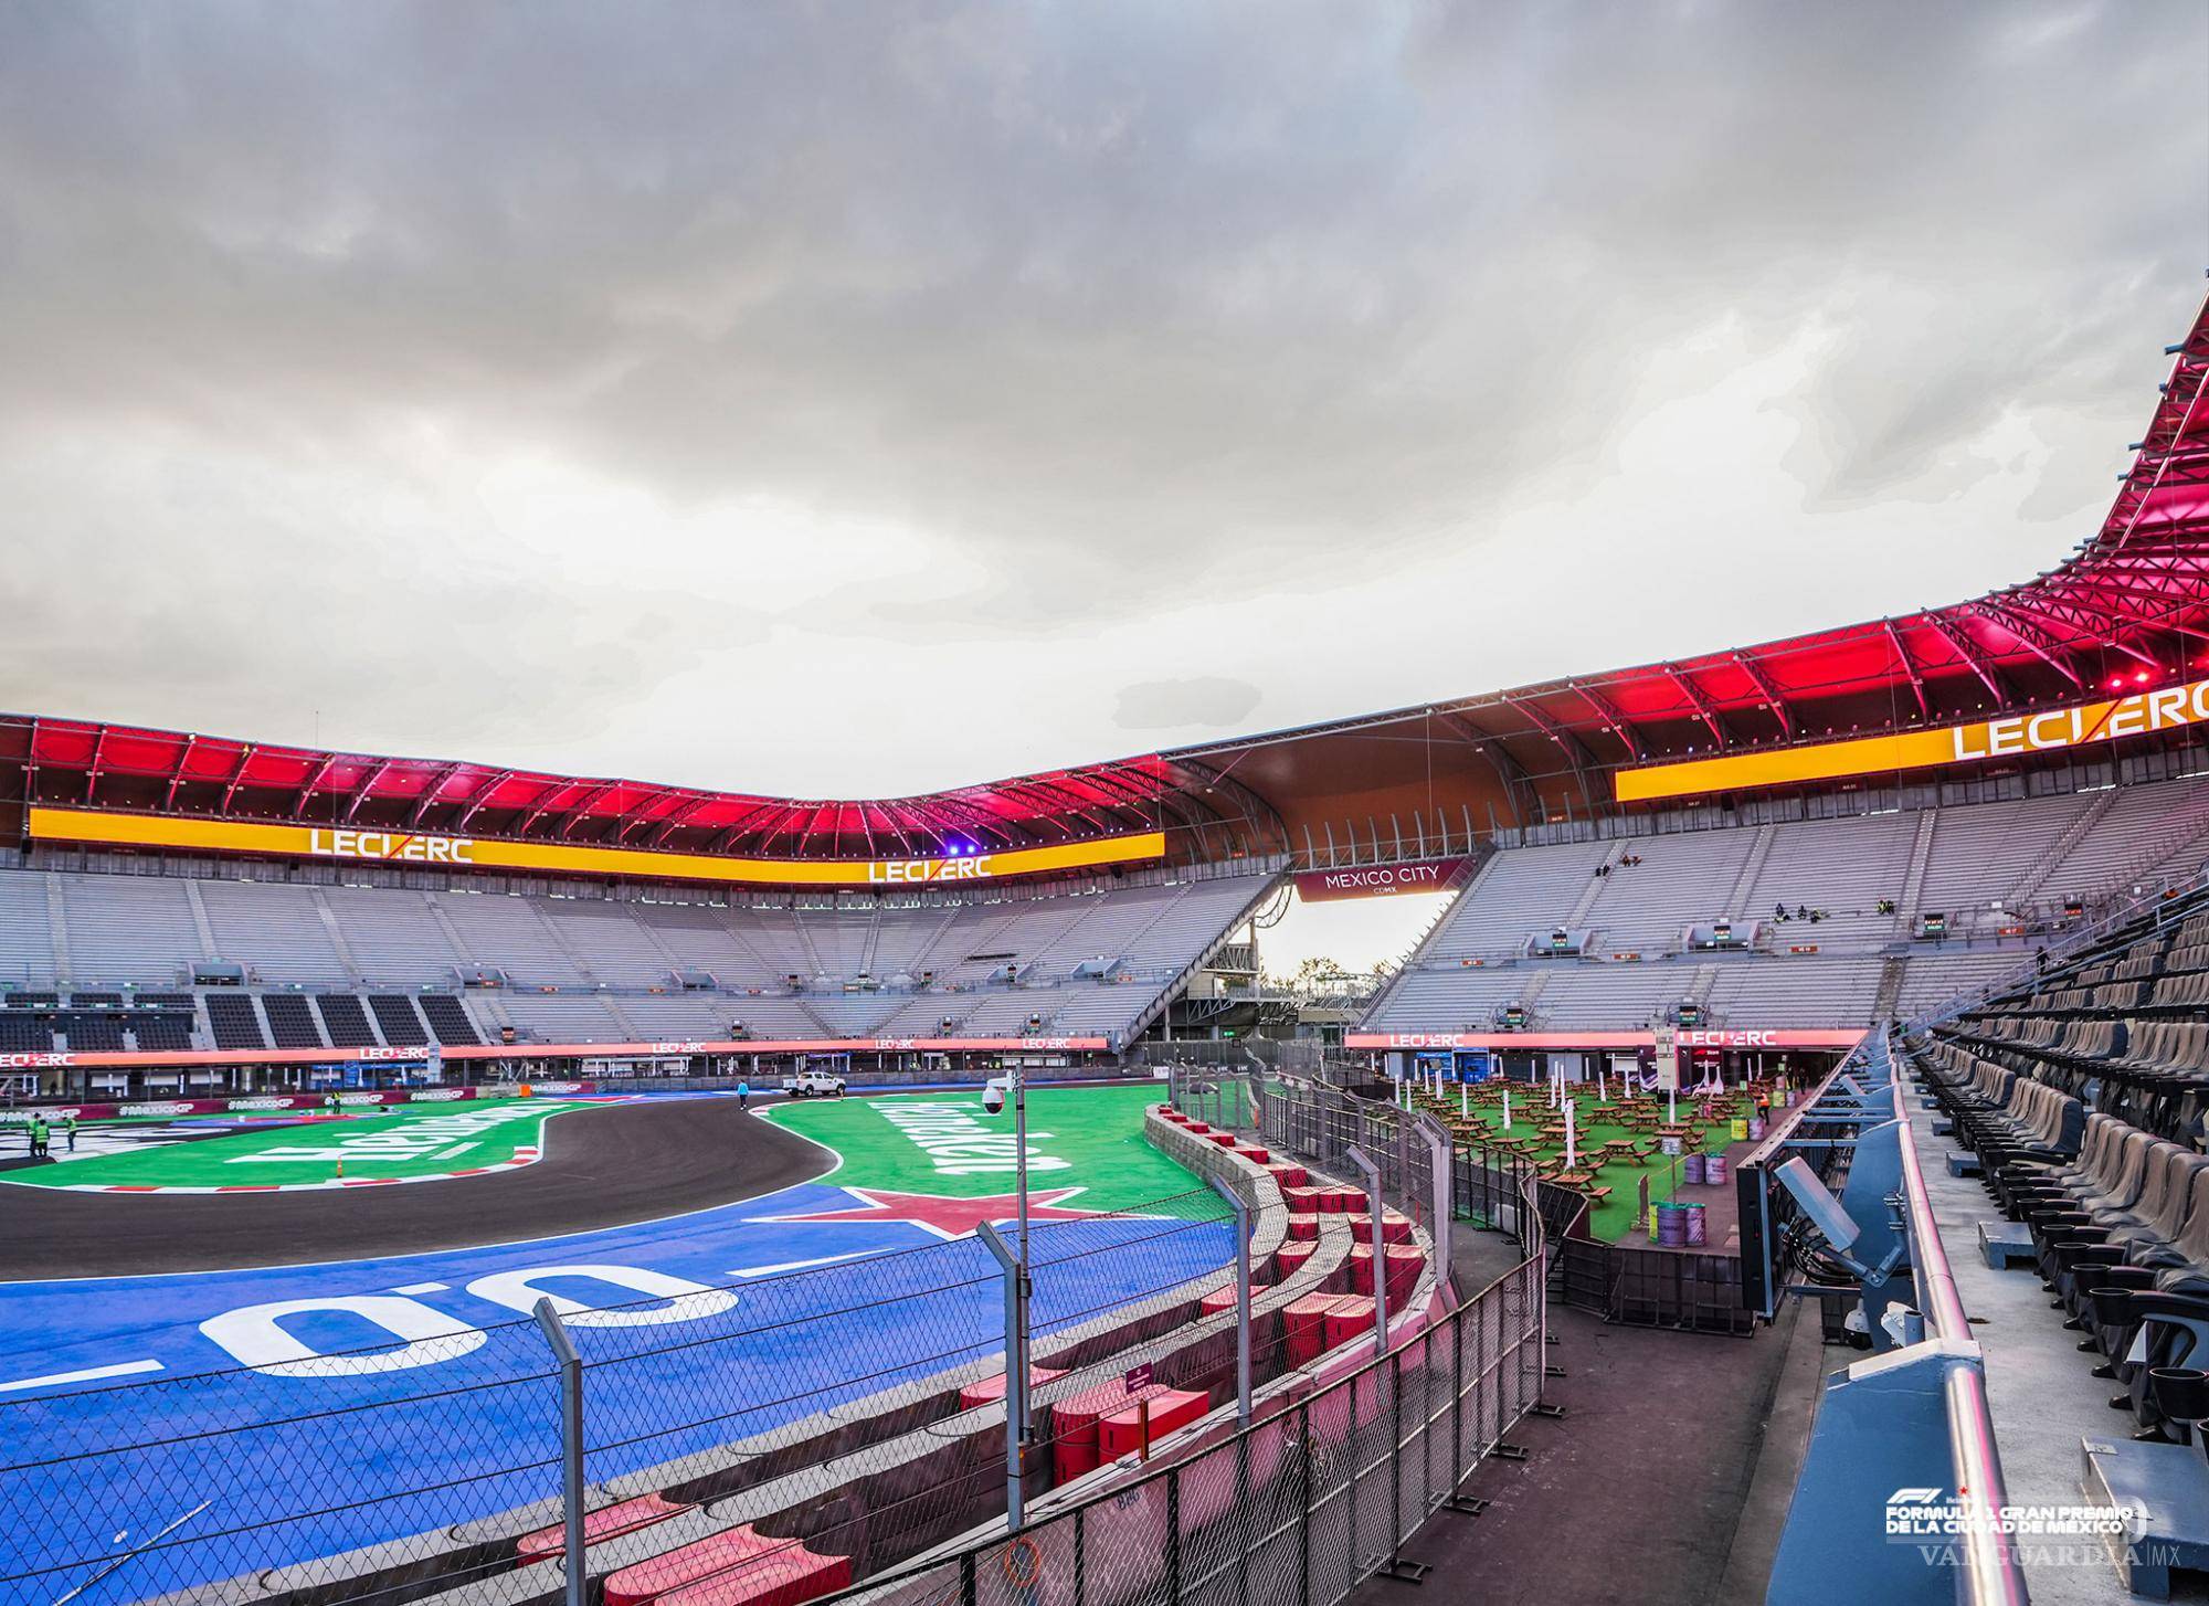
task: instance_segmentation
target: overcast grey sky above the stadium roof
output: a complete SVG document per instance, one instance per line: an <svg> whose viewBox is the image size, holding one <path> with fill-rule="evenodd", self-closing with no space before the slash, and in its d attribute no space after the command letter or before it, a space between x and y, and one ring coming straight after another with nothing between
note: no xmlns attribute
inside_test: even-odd
<svg viewBox="0 0 2209 1606"><path fill-rule="evenodd" d="M2209 7L0 9L18 711L868 795L1946 601Z"/></svg>

